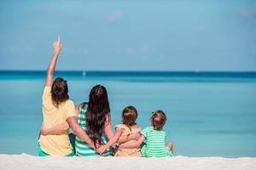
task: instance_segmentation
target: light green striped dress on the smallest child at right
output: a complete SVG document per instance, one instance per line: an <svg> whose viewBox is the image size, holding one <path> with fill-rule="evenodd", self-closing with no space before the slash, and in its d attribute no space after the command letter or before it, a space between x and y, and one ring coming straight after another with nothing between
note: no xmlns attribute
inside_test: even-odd
<svg viewBox="0 0 256 170"><path fill-rule="evenodd" d="M166 132L163 130L154 130L154 127L146 127L142 134L145 138L142 147L143 157L163 157L173 156L172 151L166 147Z"/></svg>

